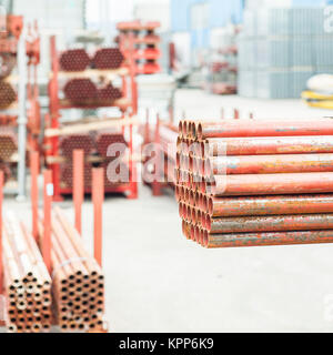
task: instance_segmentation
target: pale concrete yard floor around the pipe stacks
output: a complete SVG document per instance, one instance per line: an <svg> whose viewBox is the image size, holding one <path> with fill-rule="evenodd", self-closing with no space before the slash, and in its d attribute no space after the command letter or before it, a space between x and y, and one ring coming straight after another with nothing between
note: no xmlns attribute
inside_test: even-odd
<svg viewBox="0 0 333 355"><path fill-rule="evenodd" d="M321 116L295 100L252 101L176 94L176 112L213 118L239 106L256 116ZM70 201L61 203L72 217ZM6 201L21 215L28 203ZM92 235L92 206L83 209L84 239ZM28 217L27 214L23 215ZM107 317L113 332L331 332L333 245L204 250L188 242L172 193L104 203ZM331 313L330 313L331 312ZM331 317L330 317L331 316Z"/></svg>

